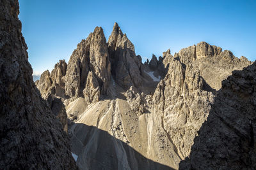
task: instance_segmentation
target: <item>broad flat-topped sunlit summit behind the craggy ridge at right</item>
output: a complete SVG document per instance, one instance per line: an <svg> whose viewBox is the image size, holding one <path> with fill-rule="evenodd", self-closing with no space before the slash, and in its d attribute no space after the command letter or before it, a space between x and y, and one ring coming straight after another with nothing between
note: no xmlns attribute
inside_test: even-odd
<svg viewBox="0 0 256 170"><path fill-rule="evenodd" d="M200 76L215 90L221 88L221 81L227 78L233 70L243 69L252 64L245 57L238 59L232 52L222 51L222 48L205 42L183 48L174 57L185 65L193 63L198 66Z"/></svg>

